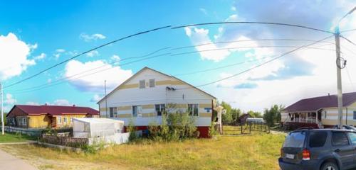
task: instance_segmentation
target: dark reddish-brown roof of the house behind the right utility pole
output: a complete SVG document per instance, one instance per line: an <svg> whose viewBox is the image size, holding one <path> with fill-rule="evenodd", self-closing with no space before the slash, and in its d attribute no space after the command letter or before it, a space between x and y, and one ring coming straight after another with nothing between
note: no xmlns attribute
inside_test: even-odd
<svg viewBox="0 0 356 170"><path fill-rule="evenodd" d="M350 106L356 101L356 92L342 94L343 107ZM320 108L337 107L337 95L319 96L314 98L305 98L285 108L283 111L318 111Z"/></svg>

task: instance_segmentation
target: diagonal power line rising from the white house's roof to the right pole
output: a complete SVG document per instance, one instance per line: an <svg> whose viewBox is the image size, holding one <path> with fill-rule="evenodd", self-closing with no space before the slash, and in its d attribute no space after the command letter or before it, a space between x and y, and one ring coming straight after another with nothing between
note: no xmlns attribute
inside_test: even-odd
<svg viewBox="0 0 356 170"><path fill-rule="evenodd" d="M297 51L297 50L300 50L300 49L303 48L303 47L308 47L308 46L310 46L310 45L314 45L315 43L318 43L318 42L320 42L320 41L326 40L326 39L331 38L331 37L333 37L333 36L334 36L334 35L331 35L331 36L329 36L329 37L327 37L327 38L323 38L322 40L319 40L319 41L317 41L317 42L313 42L313 43L311 43L311 44L309 44L309 45L300 46L300 47L298 47L298 48L295 48L294 50L290 50L290 51L288 51L288 52L285 52L285 53L279 55L278 57L274 57L274 58L271 59L271 60L268 60L268 61L266 61L266 62L263 62L263 63L261 63L261 64L258 64L258 65L256 65L255 67L251 67L250 69L246 69L246 70L244 70L243 72L239 72L239 73L233 74L233 75L231 75L231 76L229 76L229 77L225 77L224 79L218 79L218 80L216 80L216 81L211 81L211 82L209 82L209 83L207 83L207 84L201 84L201 85L195 86L195 87L207 86L207 85L210 85L210 84L215 84L215 83L217 83L217 82L219 82L219 81L224 81L224 80L226 80L226 79L231 79L232 77L239 76L240 74L244 74L244 73L249 72L249 71L251 71L251 70L253 70L253 69L256 69L256 68L258 68L258 67L261 67L261 66L263 66L264 64L268 64L269 62L273 62L274 60L277 60L277 59L279 59L279 58L281 58L281 57L283 57L283 56L285 56L285 55L288 55L288 54L290 54L290 53L292 53L292 52L295 52L295 51ZM182 88L182 89L191 89L191 87L189 87L189 88ZM177 89L177 90L182 90L182 89Z"/></svg>

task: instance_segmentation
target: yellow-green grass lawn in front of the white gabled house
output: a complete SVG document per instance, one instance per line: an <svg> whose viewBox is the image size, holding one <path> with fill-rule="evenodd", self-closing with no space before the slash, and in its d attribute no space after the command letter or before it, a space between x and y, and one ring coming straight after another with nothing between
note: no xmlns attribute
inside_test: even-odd
<svg viewBox="0 0 356 170"><path fill-rule="evenodd" d="M96 154L36 145L2 145L38 169L278 169L283 135L221 136L184 142L116 145Z"/></svg>

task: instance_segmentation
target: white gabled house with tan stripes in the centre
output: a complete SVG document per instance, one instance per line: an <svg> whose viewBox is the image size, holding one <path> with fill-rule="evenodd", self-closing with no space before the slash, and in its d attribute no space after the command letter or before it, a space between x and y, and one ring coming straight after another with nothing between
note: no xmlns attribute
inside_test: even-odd
<svg viewBox="0 0 356 170"><path fill-rule="evenodd" d="M208 137L215 97L186 82L145 67L98 102L102 117L132 121L139 130L162 122L162 113L189 112L200 137Z"/></svg>

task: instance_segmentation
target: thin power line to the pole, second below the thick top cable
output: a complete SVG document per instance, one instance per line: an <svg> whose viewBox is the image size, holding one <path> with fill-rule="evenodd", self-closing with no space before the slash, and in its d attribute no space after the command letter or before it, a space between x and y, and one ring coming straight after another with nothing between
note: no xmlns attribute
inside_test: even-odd
<svg viewBox="0 0 356 170"><path fill-rule="evenodd" d="M189 47L200 47L204 45L212 45L212 44L228 44L228 43L233 43L233 42L249 42L249 41L283 41L283 40L288 40L288 41L309 41L309 42L315 42L315 40L305 40L305 39L291 39L291 38L265 38L265 39L252 39L252 40L234 40L234 41L219 41L219 42L209 42L209 43L203 43L199 45L189 45L189 46L183 46L183 47L175 47L172 48L172 50L180 50L184 48L189 48ZM335 44L335 42L328 42L330 44Z"/></svg>

